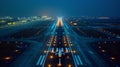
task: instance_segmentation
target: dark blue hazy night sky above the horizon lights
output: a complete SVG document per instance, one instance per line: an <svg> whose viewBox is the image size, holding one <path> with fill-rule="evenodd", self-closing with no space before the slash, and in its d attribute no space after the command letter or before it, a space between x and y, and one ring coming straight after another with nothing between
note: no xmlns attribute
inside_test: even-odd
<svg viewBox="0 0 120 67"><path fill-rule="evenodd" d="M120 0L0 0L0 16L120 16Z"/></svg>

